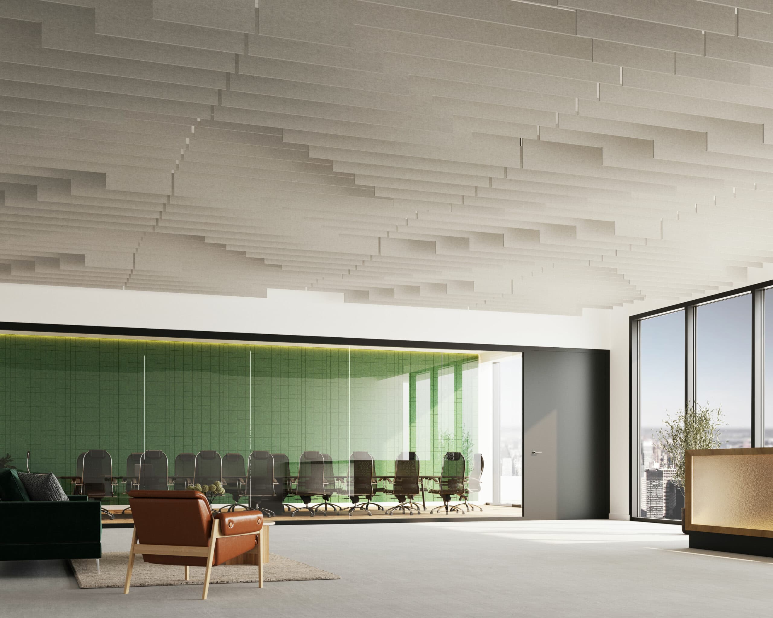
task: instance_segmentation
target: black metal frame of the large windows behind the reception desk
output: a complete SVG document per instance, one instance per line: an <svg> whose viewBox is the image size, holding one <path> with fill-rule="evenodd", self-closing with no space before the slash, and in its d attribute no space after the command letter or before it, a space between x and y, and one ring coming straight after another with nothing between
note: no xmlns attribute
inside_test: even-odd
<svg viewBox="0 0 773 618"><path fill-rule="evenodd" d="M764 331L765 331L765 314L771 314L771 320L773 320L773 306L768 306L765 309L765 292L768 289L773 288L773 280L765 281L761 284L754 284L751 286L739 288L736 290L728 290L721 294L714 294L710 297L703 297L698 301L688 301L685 303L675 304L670 307L662 307L660 309L649 311L642 314L633 315L629 318L629 406L630 406L630 433L629 433L629 480L630 480L630 515L635 520L645 521L659 521L661 523L679 523L675 520L667 519L651 519L642 518L639 511L639 454L640 454L640 395L641 395L641 379L640 379L640 355L641 355L641 329L642 320L650 317L656 317L663 314L669 314L676 311L684 311L684 402L683 407L686 407L689 402L695 401L696 396L700 400L700 393L696 392L696 334L697 334L697 318L699 314L699 307L710 304L716 301L722 301L730 299L731 297L739 297L744 294L751 296L751 302L748 304L748 311L751 313L751 319L747 321L747 333L741 334L748 337L747 341L751 341L751 345L747 345L746 351L751 356L751 363L748 369L749 385L748 389L749 398L747 399L747 414L749 423L751 426L751 435L749 443L752 447L764 446L764 382L765 382L765 370L764 370ZM768 303L773 304L773 292L768 294ZM769 324L768 328L773 329L773 324ZM773 330L771 330L771 338L773 338ZM773 355L773 341L768 345L771 348L771 355ZM773 357L771 357L773 358ZM773 388L773 369L771 369L771 377L768 380ZM773 395L771 395L773 398ZM773 411L773 399L767 406ZM773 419L768 423L773 430ZM773 434L773 432L771 432ZM773 436L771 436L773 437Z"/></svg>

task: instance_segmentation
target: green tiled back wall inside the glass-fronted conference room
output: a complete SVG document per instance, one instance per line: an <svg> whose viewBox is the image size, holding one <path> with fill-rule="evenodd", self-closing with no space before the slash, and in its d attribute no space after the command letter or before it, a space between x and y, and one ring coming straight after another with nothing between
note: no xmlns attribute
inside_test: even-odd
<svg viewBox="0 0 773 618"><path fill-rule="evenodd" d="M477 445L478 356L181 341L0 335L0 456L75 474L105 449L115 475L130 453L329 453L335 474L365 450L377 474L418 453L424 474ZM119 491L123 491L123 484ZM125 503L120 494L114 503Z"/></svg>

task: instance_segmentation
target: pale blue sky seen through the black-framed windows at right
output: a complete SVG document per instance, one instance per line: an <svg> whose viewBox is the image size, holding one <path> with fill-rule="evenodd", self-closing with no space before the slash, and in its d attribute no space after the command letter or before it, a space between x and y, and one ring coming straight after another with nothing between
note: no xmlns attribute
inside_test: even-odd
<svg viewBox="0 0 773 618"><path fill-rule="evenodd" d="M768 305L766 314L771 319L767 322L773 328L773 302ZM751 294L701 305L696 313L696 401L712 408L721 406L727 428L748 428ZM773 358L773 337L766 339L771 345L766 343L765 351ZM642 427L658 427L666 410L674 413L683 408L684 311L642 320L640 353ZM773 378L773 363L770 365ZM768 382L773 388L773 379ZM770 407L773 409L773 402Z"/></svg>

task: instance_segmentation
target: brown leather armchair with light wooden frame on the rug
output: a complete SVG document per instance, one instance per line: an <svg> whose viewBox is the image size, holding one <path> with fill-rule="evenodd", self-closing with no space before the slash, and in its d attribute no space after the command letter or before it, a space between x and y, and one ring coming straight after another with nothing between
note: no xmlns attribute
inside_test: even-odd
<svg viewBox="0 0 773 618"><path fill-rule="evenodd" d="M263 588L263 552L260 535L261 511L213 513L200 491L129 491L135 532L131 538L124 594L129 592L135 555L145 562L206 566L204 593L209 590L212 567L257 548L258 588Z"/></svg>

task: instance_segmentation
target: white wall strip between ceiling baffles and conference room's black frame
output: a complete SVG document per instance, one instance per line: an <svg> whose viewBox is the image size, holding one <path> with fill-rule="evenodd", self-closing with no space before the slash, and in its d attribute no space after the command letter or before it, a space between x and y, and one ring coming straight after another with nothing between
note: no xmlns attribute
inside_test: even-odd
<svg viewBox="0 0 773 618"><path fill-rule="evenodd" d="M581 317L344 303L342 294L267 298L0 284L0 321L264 334L608 348L609 312Z"/></svg>

